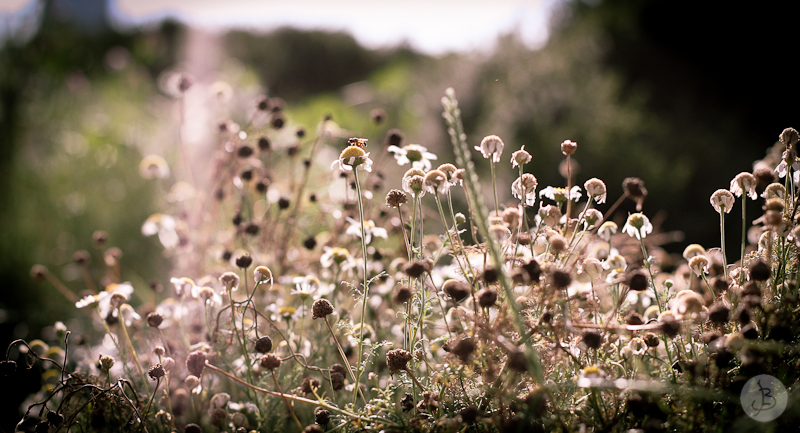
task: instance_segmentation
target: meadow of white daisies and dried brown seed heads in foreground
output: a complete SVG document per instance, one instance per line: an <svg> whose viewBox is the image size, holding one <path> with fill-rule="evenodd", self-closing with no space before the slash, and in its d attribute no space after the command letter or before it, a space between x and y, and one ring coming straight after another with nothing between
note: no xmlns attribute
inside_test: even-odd
<svg viewBox="0 0 800 433"><path fill-rule="evenodd" d="M172 85L183 104L193 81ZM0 374L41 371L18 431L798 425L796 130L764 137L764 158L709 197L719 243L666 265L647 179L576 173L592 143L563 137L546 145L564 182L541 185L525 146L464 133L453 89L450 161L379 109L306 128L279 98L243 103L246 122L214 125L203 172L180 136L175 153L127 162L168 196L141 237L163 247L169 280L122 280L125 251L102 227L74 253L80 289L31 269L78 319L6 348ZM757 382L751 404L761 375L774 386Z"/></svg>

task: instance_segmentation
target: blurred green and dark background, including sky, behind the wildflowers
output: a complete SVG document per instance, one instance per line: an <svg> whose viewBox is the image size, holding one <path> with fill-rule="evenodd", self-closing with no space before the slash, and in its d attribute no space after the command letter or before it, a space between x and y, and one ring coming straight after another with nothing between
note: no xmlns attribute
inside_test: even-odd
<svg viewBox="0 0 800 433"><path fill-rule="evenodd" d="M179 110L164 85L171 71L199 88L229 83L231 107L283 98L292 121L312 131L325 114L360 131L381 108L388 127L440 162L454 159L440 115L453 87L470 142L501 136L504 160L524 145L540 188L563 186L566 139L578 143L578 183L604 180L610 202L625 177L642 178L644 212L662 231L682 233L664 245L670 252L718 246L713 191L800 125L797 2L400 4L0 1L0 347L77 314L30 269L44 264L80 291L73 253L102 261L96 230L124 252L123 281L168 280L169 260L140 229L169 191L138 165L151 153L177 158ZM198 152L222 114L246 123L235 108L186 119ZM512 180L507 173L500 184ZM632 210L626 203L618 219ZM737 218L729 251L738 251ZM5 431L18 405L2 405Z"/></svg>

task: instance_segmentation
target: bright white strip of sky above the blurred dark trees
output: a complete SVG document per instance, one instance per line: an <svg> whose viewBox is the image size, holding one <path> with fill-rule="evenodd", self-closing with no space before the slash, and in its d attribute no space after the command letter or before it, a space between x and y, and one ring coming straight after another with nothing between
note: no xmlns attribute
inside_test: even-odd
<svg viewBox="0 0 800 433"><path fill-rule="evenodd" d="M0 28L14 28L36 0L0 0ZM80 5L81 0L60 0ZM489 49L498 35L518 32L531 48L544 44L552 10L564 0L109 0L120 26L171 17L208 30L259 32L291 26L343 30L362 45L408 42L428 54ZM84 8L96 2L83 3Z"/></svg>

